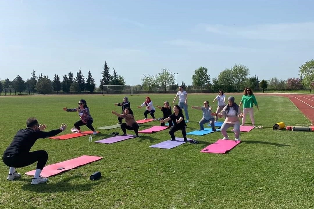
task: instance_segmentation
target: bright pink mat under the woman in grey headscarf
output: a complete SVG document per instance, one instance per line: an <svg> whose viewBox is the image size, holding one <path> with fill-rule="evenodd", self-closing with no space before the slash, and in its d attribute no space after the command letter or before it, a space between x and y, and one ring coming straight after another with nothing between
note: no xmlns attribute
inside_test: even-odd
<svg viewBox="0 0 314 209"><path fill-rule="evenodd" d="M227 151L240 144L240 142L241 141L234 141L229 139L218 139L218 141L208 145L200 152L225 154Z"/></svg>

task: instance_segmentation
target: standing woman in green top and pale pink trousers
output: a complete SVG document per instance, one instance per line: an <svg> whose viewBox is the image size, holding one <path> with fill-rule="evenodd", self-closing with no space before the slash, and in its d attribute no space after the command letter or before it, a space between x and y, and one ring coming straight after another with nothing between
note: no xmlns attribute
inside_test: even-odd
<svg viewBox="0 0 314 209"><path fill-rule="evenodd" d="M256 127L255 126L255 120L254 120L254 111L253 111L253 104L255 104L255 106L257 107L257 110L259 110L256 98L255 98L253 91L250 87L245 88L243 94L244 95L242 96L241 102L239 104L239 107L241 107L241 104L243 103L243 113L244 113L241 126L244 126L245 120L246 120L246 115L247 115L247 113L249 113L251 121L252 121L252 125L254 127Z"/></svg>

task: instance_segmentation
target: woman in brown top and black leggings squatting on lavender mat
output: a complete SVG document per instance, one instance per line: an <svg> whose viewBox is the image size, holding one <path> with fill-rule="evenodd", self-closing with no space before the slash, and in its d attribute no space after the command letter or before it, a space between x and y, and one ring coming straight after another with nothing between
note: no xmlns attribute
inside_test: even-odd
<svg viewBox="0 0 314 209"><path fill-rule="evenodd" d="M136 137L139 137L138 136L139 125L138 125L138 123L136 123L136 121L134 119L133 111L131 110L130 107L125 108L123 114L116 113L116 111L111 111L111 113L118 116L119 118L125 119L125 123L122 123L120 125L122 132L123 132L122 136L127 135L127 130L134 130Z"/></svg>

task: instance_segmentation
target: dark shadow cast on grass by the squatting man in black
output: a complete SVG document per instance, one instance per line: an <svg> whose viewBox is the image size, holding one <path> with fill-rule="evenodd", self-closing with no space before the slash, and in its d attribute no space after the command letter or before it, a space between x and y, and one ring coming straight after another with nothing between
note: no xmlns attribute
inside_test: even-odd
<svg viewBox="0 0 314 209"><path fill-rule="evenodd" d="M19 179L21 181L27 182L27 184L24 184L21 188L25 191L35 191L40 193L52 193L52 192L60 192L60 191L88 191L91 190L93 186L98 185L103 182L108 182L111 179L101 177L98 180L90 180L89 183L69 183L69 181L76 179L76 178L83 178L81 175L71 176L65 179L62 179L59 182L56 183L49 183L49 180L47 183L42 183L38 185L31 185L30 179Z"/></svg>

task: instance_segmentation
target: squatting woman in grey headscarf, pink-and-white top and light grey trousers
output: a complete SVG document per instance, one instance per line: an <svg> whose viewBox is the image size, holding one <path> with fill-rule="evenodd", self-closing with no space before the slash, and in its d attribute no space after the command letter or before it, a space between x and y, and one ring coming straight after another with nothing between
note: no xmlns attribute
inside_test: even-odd
<svg viewBox="0 0 314 209"><path fill-rule="evenodd" d="M220 113L212 113L213 116L217 115L219 118L225 116L225 121L220 128L223 139L229 139L227 135L227 129L233 126L236 141L240 140L240 121L244 114L240 111L239 105L235 102L235 97L228 97L228 104L224 107Z"/></svg>

